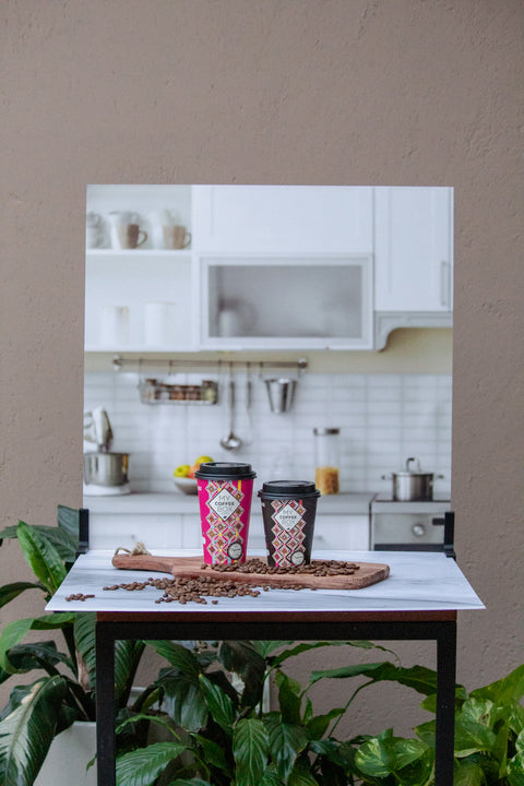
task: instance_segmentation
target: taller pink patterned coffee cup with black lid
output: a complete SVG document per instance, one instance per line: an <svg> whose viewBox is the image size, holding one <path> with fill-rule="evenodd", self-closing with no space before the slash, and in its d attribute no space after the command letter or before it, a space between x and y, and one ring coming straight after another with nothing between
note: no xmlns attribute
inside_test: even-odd
<svg viewBox="0 0 524 786"><path fill-rule="evenodd" d="M206 564L246 562L253 479L251 464L207 462L194 473Z"/></svg>

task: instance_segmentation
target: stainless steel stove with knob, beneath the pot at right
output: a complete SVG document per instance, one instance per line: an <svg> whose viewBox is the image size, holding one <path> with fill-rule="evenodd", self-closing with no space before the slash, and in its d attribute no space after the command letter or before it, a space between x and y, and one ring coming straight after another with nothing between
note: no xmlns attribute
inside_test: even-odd
<svg viewBox="0 0 524 786"><path fill-rule="evenodd" d="M449 499L400 501L379 493L371 502L370 548L377 550L441 550ZM448 519L450 521L450 519ZM453 541L448 532L446 540Z"/></svg>

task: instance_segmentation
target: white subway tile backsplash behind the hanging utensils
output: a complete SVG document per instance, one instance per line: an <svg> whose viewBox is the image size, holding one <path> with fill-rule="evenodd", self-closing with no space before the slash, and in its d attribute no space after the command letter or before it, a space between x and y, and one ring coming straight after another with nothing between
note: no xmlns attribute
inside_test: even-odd
<svg viewBox="0 0 524 786"><path fill-rule="evenodd" d="M200 376L179 374L177 381L196 383ZM235 430L245 444L236 453L219 445L229 431L225 376L215 406L153 406L141 403L136 374L87 372L84 409L107 409L115 450L131 453L130 479L136 491L172 491L175 466L202 454L250 462L260 484L283 474L311 478L313 428L322 426L341 428L343 490L389 492L391 473L403 469L413 455L422 469L445 476L436 479L439 493L450 491L450 376L306 373L293 409L282 415L270 412L263 380L253 374L252 382L248 415L245 378L239 374L237 380Z"/></svg>

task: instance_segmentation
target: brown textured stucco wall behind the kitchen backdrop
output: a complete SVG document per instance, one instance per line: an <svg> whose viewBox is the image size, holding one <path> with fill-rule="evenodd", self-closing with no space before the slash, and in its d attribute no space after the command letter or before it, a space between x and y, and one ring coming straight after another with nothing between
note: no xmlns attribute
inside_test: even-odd
<svg viewBox="0 0 524 786"><path fill-rule="evenodd" d="M2 525L82 502L87 183L454 186L453 505L488 607L460 615L458 677L521 663L523 17L520 0L3 3ZM0 570L26 573L15 545Z"/></svg>

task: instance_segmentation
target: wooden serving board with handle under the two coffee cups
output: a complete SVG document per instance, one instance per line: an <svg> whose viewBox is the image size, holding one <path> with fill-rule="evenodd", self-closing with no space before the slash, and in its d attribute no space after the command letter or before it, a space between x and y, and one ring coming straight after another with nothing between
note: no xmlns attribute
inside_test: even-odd
<svg viewBox="0 0 524 786"><path fill-rule="evenodd" d="M248 557L247 561L249 562ZM199 579L210 576L223 581L236 581L251 586L272 584L286 587L301 584L310 590L361 590L377 584L390 575L390 567L378 562L355 562L354 573L318 576L310 573L240 573L239 571L216 571L202 568L201 557L157 557L153 555L116 555L112 564L120 570L142 570L170 573L175 579ZM314 564L314 560L312 560ZM260 579L260 582L258 581Z"/></svg>

